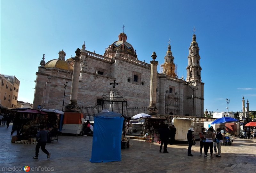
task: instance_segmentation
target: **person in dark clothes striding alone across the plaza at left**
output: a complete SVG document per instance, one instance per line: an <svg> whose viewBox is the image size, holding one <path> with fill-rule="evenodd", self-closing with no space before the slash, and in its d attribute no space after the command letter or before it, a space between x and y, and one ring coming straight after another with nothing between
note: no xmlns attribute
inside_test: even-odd
<svg viewBox="0 0 256 173"><path fill-rule="evenodd" d="M47 142L47 138L48 138L48 132L46 130L44 130L44 126L41 125L40 127L40 131L38 131L37 135L36 135L36 156L33 157L33 159L38 159L38 153L39 153L39 149L41 147L41 150L47 154L47 159L49 159L51 157L51 153L49 153L46 149L45 149L45 145Z"/></svg>

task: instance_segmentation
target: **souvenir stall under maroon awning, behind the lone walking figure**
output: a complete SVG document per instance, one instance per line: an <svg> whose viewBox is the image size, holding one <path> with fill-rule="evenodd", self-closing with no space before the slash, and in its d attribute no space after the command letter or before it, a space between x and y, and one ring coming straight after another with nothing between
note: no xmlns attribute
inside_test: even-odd
<svg viewBox="0 0 256 173"><path fill-rule="evenodd" d="M15 140L28 140L35 138L39 125L48 122L47 113L36 110L27 109L15 112L13 126L18 129L18 135ZM16 132L15 132L16 133ZM15 141L13 140L13 141Z"/></svg>

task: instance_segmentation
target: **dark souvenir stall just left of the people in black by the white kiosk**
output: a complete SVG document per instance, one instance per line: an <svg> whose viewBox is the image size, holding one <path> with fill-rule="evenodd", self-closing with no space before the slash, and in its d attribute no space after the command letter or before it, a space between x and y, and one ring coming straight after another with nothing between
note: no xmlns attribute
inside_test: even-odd
<svg viewBox="0 0 256 173"><path fill-rule="evenodd" d="M159 141L158 129L164 126L166 118L151 117L145 119L145 130L143 129L144 137L146 142L157 142Z"/></svg>

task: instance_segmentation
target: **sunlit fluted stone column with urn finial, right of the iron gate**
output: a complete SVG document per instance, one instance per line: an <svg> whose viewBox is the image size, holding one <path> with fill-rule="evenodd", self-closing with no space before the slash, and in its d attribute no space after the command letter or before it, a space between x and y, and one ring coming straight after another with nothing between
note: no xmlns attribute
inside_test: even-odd
<svg viewBox="0 0 256 173"><path fill-rule="evenodd" d="M158 61L156 59L156 52L152 54L153 61L150 61L151 73L150 73L150 98L149 98L149 106L148 113L149 114L157 114L158 110L156 108L156 75L157 75L157 64Z"/></svg>

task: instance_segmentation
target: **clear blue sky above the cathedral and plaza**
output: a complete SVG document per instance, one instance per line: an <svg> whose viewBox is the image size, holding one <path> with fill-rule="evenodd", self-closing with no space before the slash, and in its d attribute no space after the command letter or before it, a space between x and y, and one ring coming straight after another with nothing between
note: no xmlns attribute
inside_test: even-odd
<svg viewBox="0 0 256 173"><path fill-rule="evenodd" d="M1 1L0 73L15 75L18 100L33 103L43 54L47 62L63 49L67 59L85 41L86 50L103 55L124 24L139 60L149 63L156 52L158 72L170 38L178 76L186 77L195 26L204 110L227 111L228 98L229 111L241 111L244 96L256 111L255 19L254 0Z"/></svg>

